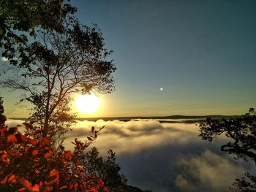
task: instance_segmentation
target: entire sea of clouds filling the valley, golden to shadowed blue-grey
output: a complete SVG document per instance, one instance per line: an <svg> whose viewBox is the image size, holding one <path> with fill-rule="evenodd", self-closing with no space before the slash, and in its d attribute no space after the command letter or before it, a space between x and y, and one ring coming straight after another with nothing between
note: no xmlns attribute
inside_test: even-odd
<svg viewBox="0 0 256 192"><path fill-rule="evenodd" d="M15 126L20 120L7 120ZM116 152L121 172L129 185L154 192L230 191L237 177L255 172L252 162L234 160L220 151L227 142L221 137L214 142L202 141L193 123L159 123L156 120L78 121L67 133L64 146L72 150L75 138L82 141L91 127L100 131L96 146L101 155L108 149Z"/></svg>

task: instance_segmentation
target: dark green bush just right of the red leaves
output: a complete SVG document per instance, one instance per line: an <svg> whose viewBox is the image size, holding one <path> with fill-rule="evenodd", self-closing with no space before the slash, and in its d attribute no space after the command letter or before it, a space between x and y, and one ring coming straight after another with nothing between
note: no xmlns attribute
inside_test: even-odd
<svg viewBox="0 0 256 192"><path fill-rule="evenodd" d="M86 166L86 174L93 174L101 178L108 187L116 187L127 185L127 179L123 174L119 174L120 166L116 164L116 154L113 150L108 150L107 159L99 157L99 152L96 147L92 147L91 151L87 152L83 159Z"/></svg>

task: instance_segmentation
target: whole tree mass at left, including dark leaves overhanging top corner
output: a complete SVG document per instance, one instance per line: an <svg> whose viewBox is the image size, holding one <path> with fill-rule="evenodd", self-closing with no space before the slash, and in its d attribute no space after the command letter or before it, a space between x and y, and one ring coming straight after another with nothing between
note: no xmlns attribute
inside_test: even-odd
<svg viewBox="0 0 256 192"><path fill-rule="evenodd" d="M17 4L20 7L23 2ZM50 8L45 10L45 4ZM71 93L110 93L114 88L112 74L116 66L107 59L112 51L105 48L102 32L96 25L80 24L72 15L74 7L64 1L37 1L35 4L28 1L26 6L31 14L39 6L37 8L43 10L37 14L54 9L56 15L48 15L53 21L48 23L49 26L44 25L44 19L38 19L42 23L31 19L30 26L18 28L30 31L33 38L20 34L23 40L19 41L16 34L4 33L2 55L9 61L2 66L1 71L7 74L1 77L0 83L5 88L25 91L26 95L20 101L25 99L34 104L29 123L34 123L36 129L48 130L42 133L45 136L59 137L74 123L75 114L69 108ZM10 8L10 4L6 7ZM15 19L21 22L18 16L15 18L19 11L10 12L11 29L17 28Z"/></svg>

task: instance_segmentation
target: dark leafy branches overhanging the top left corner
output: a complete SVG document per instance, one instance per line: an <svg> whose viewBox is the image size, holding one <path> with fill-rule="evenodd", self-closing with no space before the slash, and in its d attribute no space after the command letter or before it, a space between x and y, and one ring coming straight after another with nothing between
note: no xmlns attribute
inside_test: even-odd
<svg viewBox="0 0 256 192"><path fill-rule="evenodd" d="M62 31L62 22L74 14L76 8L66 0L0 0L0 47L4 47L2 56L11 64L17 64L15 58L28 63L23 46L36 36L35 28ZM37 43L37 42L35 42ZM20 47L15 53L15 47Z"/></svg>

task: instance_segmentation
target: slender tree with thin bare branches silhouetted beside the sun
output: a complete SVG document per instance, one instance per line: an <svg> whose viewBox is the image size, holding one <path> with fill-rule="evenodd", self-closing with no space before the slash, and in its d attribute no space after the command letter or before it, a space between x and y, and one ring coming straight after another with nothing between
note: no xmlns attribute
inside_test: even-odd
<svg viewBox="0 0 256 192"><path fill-rule="evenodd" d="M82 26L72 16L65 18L62 26L61 31L37 30L35 41L22 47L26 53L18 60L18 67L6 64L7 71L15 76L1 82L5 88L29 93L25 99L35 105L30 123L45 129L42 137L61 135L74 122L75 115L69 110L72 93L110 93L114 87L112 73L116 67L107 61L111 51L105 49L99 28ZM62 123L61 129L56 120Z"/></svg>

